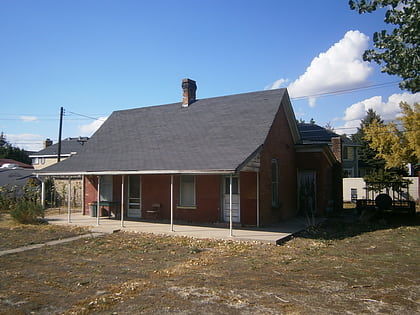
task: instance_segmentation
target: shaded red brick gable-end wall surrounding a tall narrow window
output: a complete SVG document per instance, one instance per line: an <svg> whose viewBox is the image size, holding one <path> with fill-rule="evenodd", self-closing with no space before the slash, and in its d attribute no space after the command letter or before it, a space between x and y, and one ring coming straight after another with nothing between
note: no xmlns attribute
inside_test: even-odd
<svg viewBox="0 0 420 315"><path fill-rule="evenodd" d="M260 213L261 224L270 225L297 212L296 153L289 124L280 106L261 152ZM271 160L278 159L279 208L271 205Z"/></svg>

